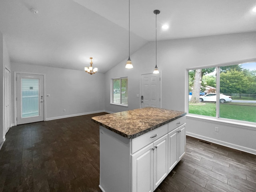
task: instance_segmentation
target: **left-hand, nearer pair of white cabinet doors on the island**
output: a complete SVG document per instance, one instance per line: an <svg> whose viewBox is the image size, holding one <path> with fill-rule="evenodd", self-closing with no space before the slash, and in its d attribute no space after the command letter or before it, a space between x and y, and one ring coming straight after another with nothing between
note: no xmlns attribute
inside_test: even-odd
<svg viewBox="0 0 256 192"><path fill-rule="evenodd" d="M168 135L132 154L132 192L153 192L168 174Z"/></svg>

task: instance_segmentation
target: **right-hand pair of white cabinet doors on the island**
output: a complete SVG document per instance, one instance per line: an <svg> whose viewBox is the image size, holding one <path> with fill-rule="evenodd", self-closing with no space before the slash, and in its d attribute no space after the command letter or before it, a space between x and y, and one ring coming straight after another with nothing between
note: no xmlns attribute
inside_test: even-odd
<svg viewBox="0 0 256 192"><path fill-rule="evenodd" d="M184 156L186 151L186 123L168 133L168 173Z"/></svg>

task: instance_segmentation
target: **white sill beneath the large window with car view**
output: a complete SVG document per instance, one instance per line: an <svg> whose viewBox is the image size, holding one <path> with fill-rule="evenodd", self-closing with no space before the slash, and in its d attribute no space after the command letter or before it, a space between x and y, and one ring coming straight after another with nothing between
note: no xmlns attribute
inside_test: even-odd
<svg viewBox="0 0 256 192"><path fill-rule="evenodd" d="M256 130L256 123L254 122L242 122L242 121L234 121L234 120L228 120L224 118L215 118L215 117L207 117L207 116L198 116L193 114L187 114L186 118L188 119L200 119L202 121L208 121L208 122L219 122L221 124L232 124L237 127L243 127L246 129L252 129Z"/></svg>

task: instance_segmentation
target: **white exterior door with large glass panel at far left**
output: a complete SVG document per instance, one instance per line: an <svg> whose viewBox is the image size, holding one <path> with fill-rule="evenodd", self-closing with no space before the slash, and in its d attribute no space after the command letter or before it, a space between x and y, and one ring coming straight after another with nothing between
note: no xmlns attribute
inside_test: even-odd
<svg viewBox="0 0 256 192"><path fill-rule="evenodd" d="M17 74L17 124L44 120L44 76Z"/></svg>

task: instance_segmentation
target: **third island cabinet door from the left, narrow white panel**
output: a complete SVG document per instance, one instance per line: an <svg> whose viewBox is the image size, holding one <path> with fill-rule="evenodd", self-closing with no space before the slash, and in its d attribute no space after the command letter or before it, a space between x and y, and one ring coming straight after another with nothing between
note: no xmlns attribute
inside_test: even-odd
<svg viewBox="0 0 256 192"><path fill-rule="evenodd" d="M178 162L178 136L178 128L168 133L168 173L170 173Z"/></svg>

